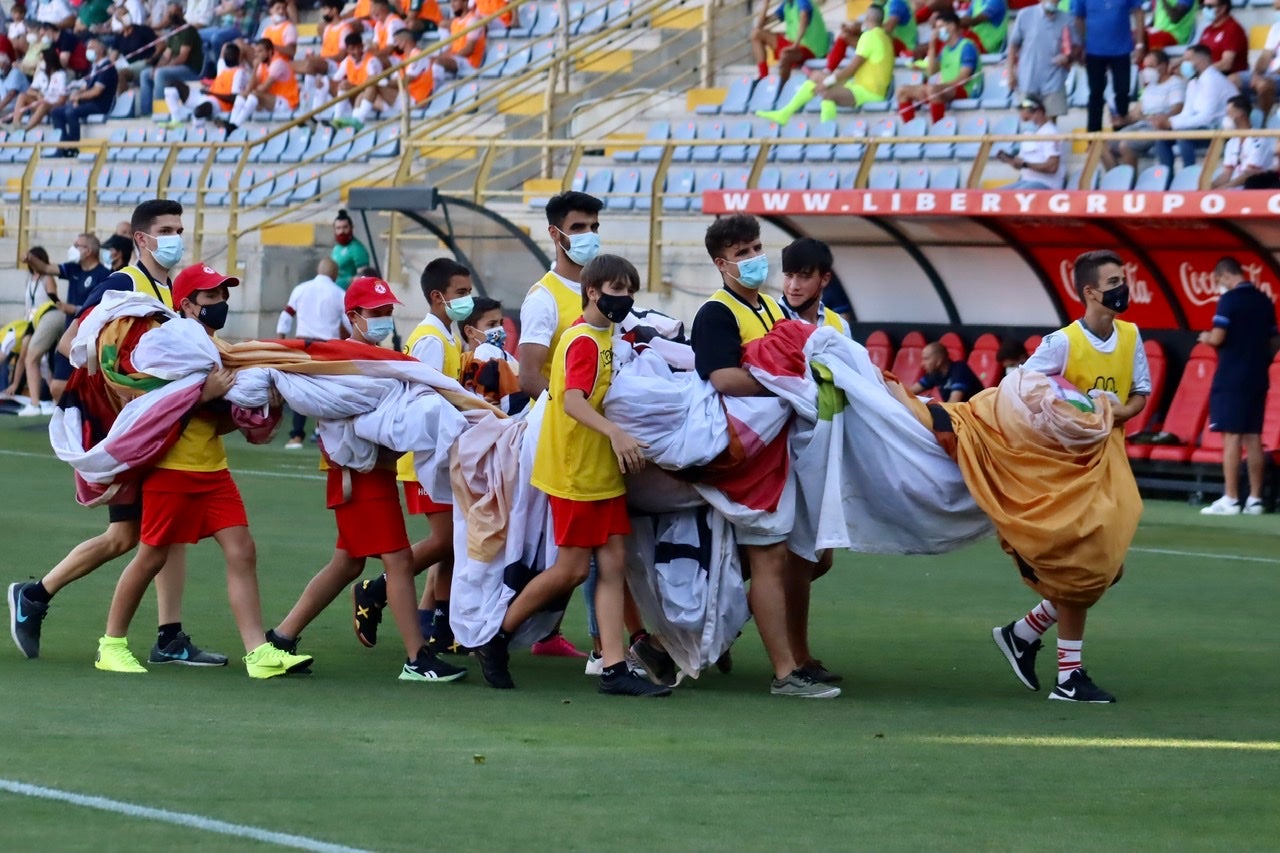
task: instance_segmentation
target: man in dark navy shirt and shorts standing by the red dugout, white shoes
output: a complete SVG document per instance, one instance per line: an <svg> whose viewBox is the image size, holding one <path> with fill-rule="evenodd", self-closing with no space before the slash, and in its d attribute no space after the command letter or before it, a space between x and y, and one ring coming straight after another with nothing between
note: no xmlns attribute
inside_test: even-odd
<svg viewBox="0 0 1280 853"><path fill-rule="evenodd" d="M1276 306L1234 257L1213 268L1213 284L1222 292L1213 311L1213 328L1199 342L1217 350L1217 368L1208 392L1208 428L1222 433L1222 497L1201 515L1240 514L1240 447L1249 473L1245 515L1262 515L1262 421L1266 412L1268 370L1280 346Z"/></svg>

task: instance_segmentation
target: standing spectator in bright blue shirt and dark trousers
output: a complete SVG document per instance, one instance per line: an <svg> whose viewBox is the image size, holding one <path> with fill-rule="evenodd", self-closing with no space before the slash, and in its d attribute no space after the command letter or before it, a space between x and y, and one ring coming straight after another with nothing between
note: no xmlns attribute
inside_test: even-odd
<svg viewBox="0 0 1280 853"><path fill-rule="evenodd" d="M1129 63L1138 61L1147 42L1142 3L1143 0L1071 0L1076 35L1084 42L1084 73L1089 81L1087 127L1091 133L1102 129L1102 100L1108 73L1116 99L1114 111L1119 115L1129 113Z"/></svg>

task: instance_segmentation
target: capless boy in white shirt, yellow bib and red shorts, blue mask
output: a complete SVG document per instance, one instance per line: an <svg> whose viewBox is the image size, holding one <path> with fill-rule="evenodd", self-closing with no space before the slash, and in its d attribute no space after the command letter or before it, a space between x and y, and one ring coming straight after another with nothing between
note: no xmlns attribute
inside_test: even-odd
<svg viewBox="0 0 1280 853"><path fill-rule="evenodd" d="M471 316L471 270L448 257L426 265L421 277L422 296L430 306L426 316L410 332L404 353L435 368L449 379L462 375L462 339L454 324ZM436 503L417 482L413 455L404 453L396 464L397 479L404 484L404 506L410 515L425 515L430 537L413 544L413 570L429 569L426 588L419 607L422 634L431 651L442 652L453 646L449 629L449 585L453 583L453 505ZM385 576L361 580L351 589L355 606L356 637L365 646L378 643L378 624L387 605Z"/></svg>

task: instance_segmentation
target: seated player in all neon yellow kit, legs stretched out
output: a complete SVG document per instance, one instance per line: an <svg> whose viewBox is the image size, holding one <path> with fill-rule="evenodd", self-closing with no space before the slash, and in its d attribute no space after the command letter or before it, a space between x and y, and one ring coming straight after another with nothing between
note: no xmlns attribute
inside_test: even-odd
<svg viewBox="0 0 1280 853"><path fill-rule="evenodd" d="M882 8L869 8L863 15L861 35L858 36L851 63L835 72L812 72L791 102L777 110L760 110L756 115L786 124L817 95L822 99L822 120L833 122L837 105L856 109L888 99L888 87L893 81L893 40L881 27L883 18Z"/></svg>

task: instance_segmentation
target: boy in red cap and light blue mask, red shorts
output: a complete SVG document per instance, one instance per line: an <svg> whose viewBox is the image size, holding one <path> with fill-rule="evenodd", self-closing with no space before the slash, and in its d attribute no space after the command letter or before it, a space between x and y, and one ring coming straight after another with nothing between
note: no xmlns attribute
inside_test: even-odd
<svg viewBox="0 0 1280 853"><path fill-rule="evenodd" d="M380 347L392 336L394 307L401 301L380 278L361 275L352 279L343 297L351 341ZM396 455L384 452L370 471L333 465L320 444L321 466L326 469L326 505L338 524L338 542L329 562L302 590L293 610L268 639L276 648L294 653L303 629L355 583L369 557L379 557L387 576L387 606L404 642L402 681L456 681L466 669L436 657L426 644L417 619L417 590L413 587L413 552L408 544L404 512L396 482Z"/></svg>

